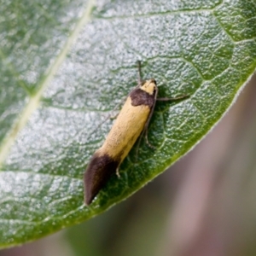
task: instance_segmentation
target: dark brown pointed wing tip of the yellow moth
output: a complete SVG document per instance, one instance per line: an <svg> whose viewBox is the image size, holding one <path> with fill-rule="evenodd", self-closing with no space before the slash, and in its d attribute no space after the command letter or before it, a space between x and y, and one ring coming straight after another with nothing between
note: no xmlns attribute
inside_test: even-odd
<svg viewBox="0 0 256 256"><path fill-rule="evenodd" d="M89 206L99 191L116 172L119 161L113 160L108 154L94 154L84 172L84 203Z"/></svg>

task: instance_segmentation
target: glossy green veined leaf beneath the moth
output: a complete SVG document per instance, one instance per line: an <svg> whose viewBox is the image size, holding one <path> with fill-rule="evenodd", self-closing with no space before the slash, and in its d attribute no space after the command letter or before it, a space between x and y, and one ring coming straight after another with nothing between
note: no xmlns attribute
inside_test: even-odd
<svg viewBox="0 0 256 256"><path fill-rule="evenodd" d="M189 151L256 67L254 0L4 0L0 6L0 246L79 223ZM115 106L143 78L160 96L136 147L90 207L83 173Z"/></svg>

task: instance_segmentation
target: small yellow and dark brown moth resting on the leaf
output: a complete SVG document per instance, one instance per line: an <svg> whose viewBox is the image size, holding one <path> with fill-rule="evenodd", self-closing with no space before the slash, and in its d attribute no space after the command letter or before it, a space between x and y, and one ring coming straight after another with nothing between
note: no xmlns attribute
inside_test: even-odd
<svg viewBox="0 0 256 256"><path fill-rule="evenodd" d="M130 152L137 138L144 132L148 143L148 124L154 112L155 102L175 101L175 98L157 98L158 88L155 79L141 79L141 65L138 61L139 83L131 90L120 110L112 129L102 147L93 154L84 172L84 202L90 205L108 178L115 172L119 176L119 166ZM148 146L153 148L148 143Z"/></svg>

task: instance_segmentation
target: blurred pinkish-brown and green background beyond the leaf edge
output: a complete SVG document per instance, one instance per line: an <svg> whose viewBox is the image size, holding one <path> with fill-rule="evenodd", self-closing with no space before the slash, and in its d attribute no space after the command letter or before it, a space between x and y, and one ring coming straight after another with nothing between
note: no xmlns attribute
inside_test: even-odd
<svg viewBox="0 0 256 256"><path fill-rule="evenodd" d="M0 256L255 256L256 77L183 159L108 212Z"/></svg>

